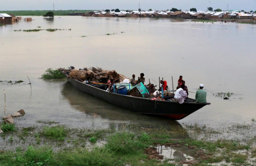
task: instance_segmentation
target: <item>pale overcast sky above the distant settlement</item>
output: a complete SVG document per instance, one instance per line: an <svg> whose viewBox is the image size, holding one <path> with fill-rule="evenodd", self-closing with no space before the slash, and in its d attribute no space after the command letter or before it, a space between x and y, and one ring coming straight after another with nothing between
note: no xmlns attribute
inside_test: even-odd
<svg viewBox="0 0 256 166"><path fill-rule="evenodd" d="M53 4L55 10L256 10L256 0L0 0L0 11L53 10Z"/></svg>

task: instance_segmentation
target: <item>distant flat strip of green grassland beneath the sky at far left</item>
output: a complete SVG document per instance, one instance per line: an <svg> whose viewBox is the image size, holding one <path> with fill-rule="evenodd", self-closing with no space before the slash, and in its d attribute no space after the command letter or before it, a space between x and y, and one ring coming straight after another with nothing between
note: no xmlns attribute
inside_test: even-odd
<svg viewBox="0 0 256 166"><path fill-rule="evenodd" d="M8 15L15 16L42 16L51 10L22 10L22 11L0 11L0 13L6 13ZM54 16L67 16L74 13L86 13L94 10L54 10Z"/></svg>

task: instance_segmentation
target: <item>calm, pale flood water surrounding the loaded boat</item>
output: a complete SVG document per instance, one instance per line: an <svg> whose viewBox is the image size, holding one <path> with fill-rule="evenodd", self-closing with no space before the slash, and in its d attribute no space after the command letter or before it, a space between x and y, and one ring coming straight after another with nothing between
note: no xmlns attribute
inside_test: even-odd
<svg viewBox="0 0 256 166"><path fill-rule="evenodd" d="M81 16L32 19L0 27L0 115L5 115L4 109L6 114L24 109L25 116L14 120L17 125L47 120L85 128L121 123L197 123L218 128L256 119L255 25ZM63 30L14 31L48 28ZM189 97L194 98L192 92L204 84L211 105L173 122L110 105L81 93L65 79L40 79L48 68L71 65L116 70L130 78L143 72L146 84L150 79L158 85L163 77L170 90L171 77L176 86L182 75ZM5 82L9 80L24 82ZM229 100L216 96L228 92L233 93Z"/></svg>

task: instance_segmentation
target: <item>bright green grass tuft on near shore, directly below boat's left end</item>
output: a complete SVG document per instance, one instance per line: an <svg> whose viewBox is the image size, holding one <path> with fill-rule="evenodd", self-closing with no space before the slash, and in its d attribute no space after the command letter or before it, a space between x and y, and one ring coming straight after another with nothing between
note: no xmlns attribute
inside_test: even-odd
<svg viewBox="0 0 256 166"><path fill-rule="evenodd" d="M53 127L45 126L42 131L42 135L48 138L54 138L58 141L64 141L67 136L68 130L65 126L57 125Z"/></svg>

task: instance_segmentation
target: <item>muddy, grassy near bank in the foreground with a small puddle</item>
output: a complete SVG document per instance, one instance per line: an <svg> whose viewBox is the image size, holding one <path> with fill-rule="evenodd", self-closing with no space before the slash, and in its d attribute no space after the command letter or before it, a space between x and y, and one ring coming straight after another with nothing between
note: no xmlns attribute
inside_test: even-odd
<svg viewBox="0 0 256 166"><path fill-rule="evenodd" d="M218 139L206 141L194 138L201 132L215 137L221 134L205 126L187 125L186 128L169 125L146 128L137 124L119 125L107 129L78 129L58 125L58 122L38 121L42 124L2 133L6 146L0 149L0 165L48 166L175 166L175 165L253 165L256 162L256 138L247 140ZM8 126L9 127L9 126ZM241 126L240 126L241 127ZM255 128L245 125L243 129ZM7 129L7 127L5 128ZM236 130L236 129L235 129ZM190 131L189 133L187 131ZM15 144L15 142L17 144ZM192 151L190 158L163 158L154 148L165 145L178 151Z"/></svg>

